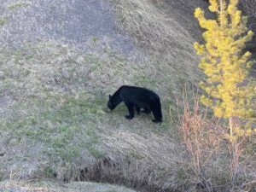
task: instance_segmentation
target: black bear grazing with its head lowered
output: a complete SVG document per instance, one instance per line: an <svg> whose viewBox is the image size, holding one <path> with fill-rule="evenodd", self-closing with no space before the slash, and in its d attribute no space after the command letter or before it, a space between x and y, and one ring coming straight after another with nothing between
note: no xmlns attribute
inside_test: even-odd
<svg viewBox="0 0 256 192"><path fill-rule="evenodd" d="M128 108L129 115L125 115L126 119L132 119L134 117L135 109L137 113L140 113L141 108L143 108L144 113L153 113L153 122L162 122L163 116L160 97L152 90L123 85L119 90L115 91L113 96L109 95L108 108L113 110L120 102L125 102Z"/></svg>

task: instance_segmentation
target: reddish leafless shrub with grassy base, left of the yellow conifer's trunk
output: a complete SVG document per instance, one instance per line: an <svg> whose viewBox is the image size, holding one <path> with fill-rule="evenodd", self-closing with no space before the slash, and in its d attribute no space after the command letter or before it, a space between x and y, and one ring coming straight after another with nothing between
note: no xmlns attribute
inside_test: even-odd
<svg viewBox="0 0 256 192"><path fill-rule="evenodd" d="M220 154L228 156L222 145L225 132L221 125L218 125L217 119L208 119L207 111L200 112L198 94L192 101L189 101L184 93L180 110L178 130L189 154L188 162L185 164L189 167L189 171L186 174L194 173L197 185L208 192L215 191L218 189L218 185L225 184L224 180L227 176L226 167L229 160L219 158ZM213 163L214 161L217 163ZM218 175L222 177L218 178Z"/></svg>

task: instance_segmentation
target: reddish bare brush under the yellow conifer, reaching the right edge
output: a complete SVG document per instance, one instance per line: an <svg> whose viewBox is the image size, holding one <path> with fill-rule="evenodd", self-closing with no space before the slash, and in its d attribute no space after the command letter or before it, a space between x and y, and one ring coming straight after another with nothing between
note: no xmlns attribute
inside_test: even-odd
<svg viewBox="0 0 256 192"><path fill-rule="evenodd" d="M253 152L246 154L245 149L246 144L252 147L253 142L241 137L230 143L226 139L228 129L222 125L224 122L209 119L207 111L200 113L198 96L192 99L192 104L183 96L180 108L179 132L188 152L190 183L200 182L197 186L204 191L252 190L254 168L248 170L248 167L255 164L252 160L255 155Z"/></svg>

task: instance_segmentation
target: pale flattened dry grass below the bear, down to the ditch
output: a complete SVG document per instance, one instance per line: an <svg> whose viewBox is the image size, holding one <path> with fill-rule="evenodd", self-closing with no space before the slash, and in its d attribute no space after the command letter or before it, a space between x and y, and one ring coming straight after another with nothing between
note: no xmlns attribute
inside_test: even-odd
<svg viewBox="0 0 256 192"><path fill-rule="evenodd" d="M103 136L102 142L108 158L99 160L92 170L84 168L83 179L122 183L145 191L186 188L178 166L183 160L183 148L169 137L119 131Z"/></svg>

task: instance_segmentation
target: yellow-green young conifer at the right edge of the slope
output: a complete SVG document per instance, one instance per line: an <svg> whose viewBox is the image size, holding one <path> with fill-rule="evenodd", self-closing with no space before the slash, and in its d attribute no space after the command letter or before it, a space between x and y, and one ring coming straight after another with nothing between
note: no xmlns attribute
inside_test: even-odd
<svg viewBox="0 0 256 192"><path fill-rule="evenodd" d="M199 67L207 76L201 88L207 96L201 102L212 108L217 117L230 119L230 137L237 130L234 120L253 117L255 85L248 78L253 65L245 44L253 38L247 29L247 17L237 9L238 0L210 0L209 10L216 20L207 20L204 11L195 9L195 18L206 31L205 44L195 43L198 55L202 55ZM255 101L254 101L255 102ZM234 134L235 135L235 134Z"/></svg>

